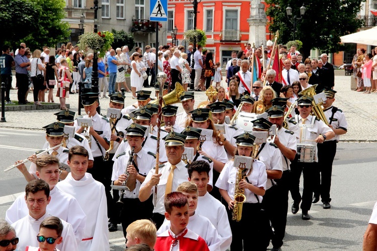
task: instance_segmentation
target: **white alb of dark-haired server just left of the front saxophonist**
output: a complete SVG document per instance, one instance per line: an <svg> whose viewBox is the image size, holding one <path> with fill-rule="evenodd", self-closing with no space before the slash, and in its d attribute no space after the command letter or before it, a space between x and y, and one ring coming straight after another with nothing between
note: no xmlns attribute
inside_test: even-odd
<svg viewBox="0 0 377 251"><path fill-rule="evenodd" d="M207 217L219 233L221 240L220 250L226 251L232 243L232 230L225 206L210 193L198 197L198 207L196 212ZM191 217L190 217L191 220ZM189 222L190 223L190 222Z"/></svg>

